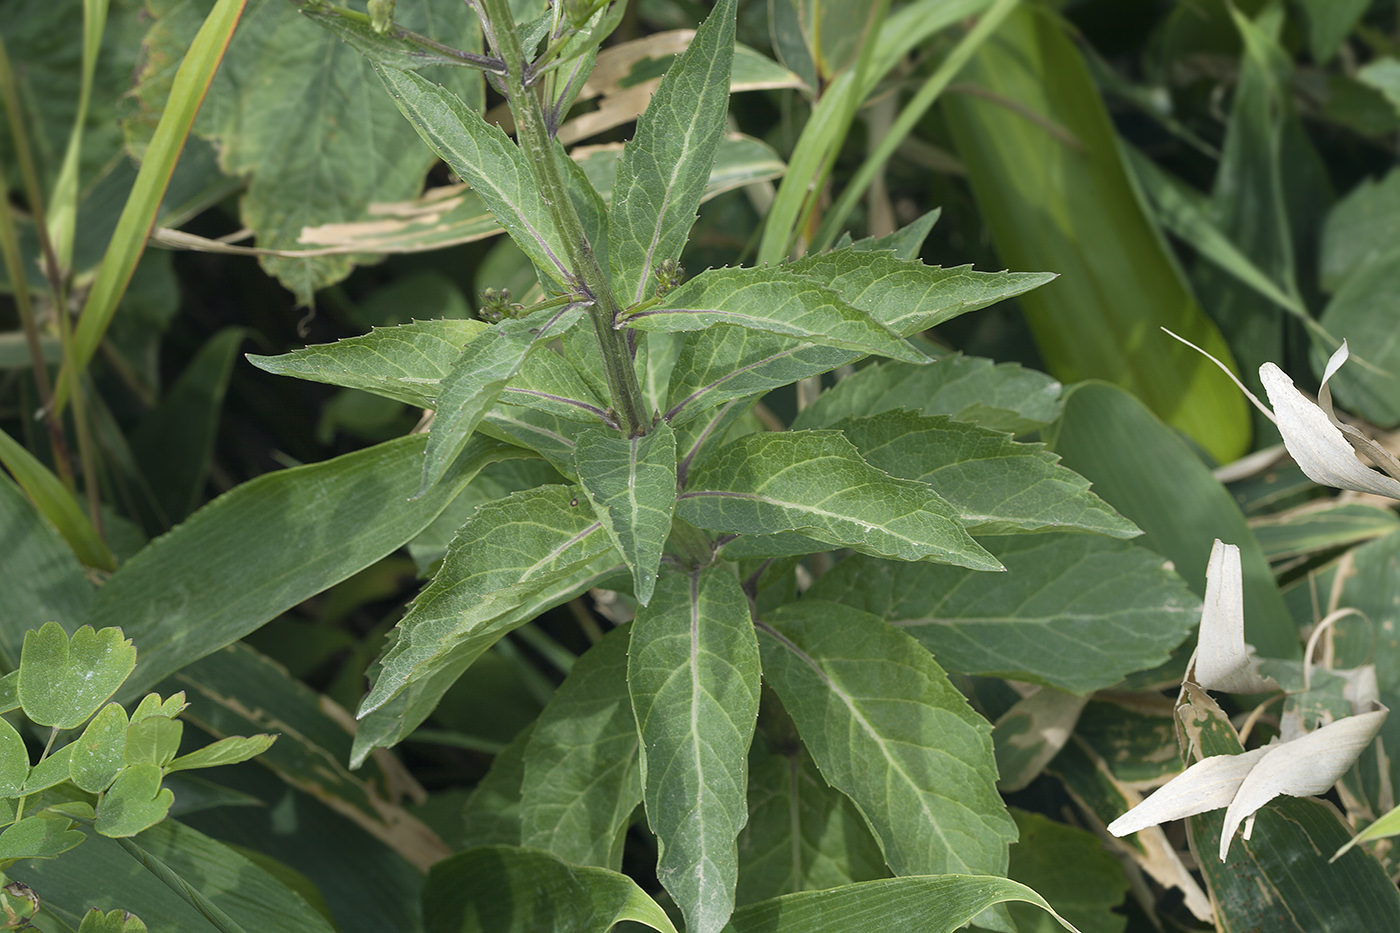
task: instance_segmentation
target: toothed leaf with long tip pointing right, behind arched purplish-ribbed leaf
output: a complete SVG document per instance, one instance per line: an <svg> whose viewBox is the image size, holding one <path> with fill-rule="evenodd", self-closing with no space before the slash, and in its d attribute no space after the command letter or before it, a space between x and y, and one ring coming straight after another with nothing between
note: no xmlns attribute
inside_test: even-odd
<svg viewBox="0 0 1400 933"><path fill-rule="evenodd" d="M780 269L820 282L900 336L1014 298L1056 277L1051 272L925 266L918 259L900 259L893 252L854 245L805 256Z"/></svg>

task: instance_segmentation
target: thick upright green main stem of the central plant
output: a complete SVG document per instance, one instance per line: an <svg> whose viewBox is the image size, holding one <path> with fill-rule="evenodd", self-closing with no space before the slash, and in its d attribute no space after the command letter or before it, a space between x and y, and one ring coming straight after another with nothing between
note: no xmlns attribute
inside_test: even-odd
<svg viewBox="0 0 1400 933"><path fill-rule="evenodd" d="M608 377L608 391L612 395L613 408L627 436L638 437L651 429L651 419L645 415L645 402L641 396L641 385L637 382L637 373L631 366L627 340L613 329L619 314L617 300L598 265L598 256L594 255L594 248L584 233L584 224L578 220L578 212L574 210L574 202L568 196L568 188L554 153L554 140L550 139L546 129L539 97L531 87L526 87L525 55L519 36L515 35L510 0L480 0L480 4L486 11L486 20L491 24L491 32L496 35L496 50L505 62L505 90L511 102L511 113L515 116L517 141L525 151L535 182L539 185L554 224L564 238L573 276L592 300L589 317L602 349L603 371Z"/></svg>

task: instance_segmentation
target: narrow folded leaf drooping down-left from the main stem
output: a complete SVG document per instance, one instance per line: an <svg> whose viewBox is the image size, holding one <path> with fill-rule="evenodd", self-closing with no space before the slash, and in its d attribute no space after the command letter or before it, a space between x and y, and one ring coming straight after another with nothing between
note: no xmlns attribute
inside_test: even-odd
<svg viewBox="0 0 1400 933"><path fill-rule="evenodd" d="M501 321L466 345L452 371L438 385L437 417L428 433L423 482L414 497L427 495L442 479L529 352L578 324L582 314L584 305L578 303L543 308Z"/></svg>

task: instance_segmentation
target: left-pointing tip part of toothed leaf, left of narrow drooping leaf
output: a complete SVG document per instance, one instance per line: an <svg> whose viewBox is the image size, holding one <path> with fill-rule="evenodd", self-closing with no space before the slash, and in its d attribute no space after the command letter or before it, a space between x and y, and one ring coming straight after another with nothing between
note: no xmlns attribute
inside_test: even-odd
<svg viewBox="0 0 1400 933"><path fill-rule="evenodd" d="M249 353L248 361L279 375L364 389L406 405L431 408L438 381L452 371L462 347L487 329L482 321L413 321L281 356Z"/></svg>

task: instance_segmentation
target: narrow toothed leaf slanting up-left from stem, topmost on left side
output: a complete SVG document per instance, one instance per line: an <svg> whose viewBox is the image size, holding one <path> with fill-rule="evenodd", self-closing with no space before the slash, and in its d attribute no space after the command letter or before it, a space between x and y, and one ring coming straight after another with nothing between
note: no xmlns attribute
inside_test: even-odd
<svg viewBox="0 0 1400 933"><path fill-rule="evenodd" d="M568 252L519 147L452 91L413 71L375 70L423 141L482 196L535 268L546 279L567 282ZM704 182L701 178L701 188Z"/></svg>

